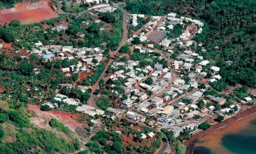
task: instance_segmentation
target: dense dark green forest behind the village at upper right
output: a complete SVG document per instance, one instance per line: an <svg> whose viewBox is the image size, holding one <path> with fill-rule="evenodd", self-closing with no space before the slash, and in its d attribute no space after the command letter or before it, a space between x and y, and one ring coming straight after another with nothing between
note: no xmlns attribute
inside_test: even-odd
<svg viewBox="0 0 256 154"><path fill-rule="evenodd" d="M127 1L125 6L130 13L166 15L177 12L203 20L204 31L194 40L203 43L207 52L202 52L201 47L197 52L207 60L216 61L223 81L249 87L256 85L255 8L256 2L250 0L139 0Z"/></svg>

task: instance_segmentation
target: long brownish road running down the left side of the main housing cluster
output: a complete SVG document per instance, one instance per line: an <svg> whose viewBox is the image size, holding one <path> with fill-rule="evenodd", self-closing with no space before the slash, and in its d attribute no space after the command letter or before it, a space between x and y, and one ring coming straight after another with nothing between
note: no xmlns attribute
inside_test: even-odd
<svg viewBox="0 0 256 154"><path fill-rule="evenodd" d="M116 49L116 51L114 51L115 53L117 53L120 48L126 43L126 39L127 39L127 33L128 33L128 29L127 29L127 23L126 23L126 19L128 17L128 13L122 9L122 8L119 8L122 13L123 13L123 36L122 36L122 40L120 41L119 43L119 46L118 48ZM113 57L113 54L111 54L111 57ZM97 80L97 82L92 86L93 89L92 89L92 92L91 92L91 97L90 99L88 100L88 105L92 106L92 107L95 107L95 108L98 108L97 105L95 104L95 101L94 99L97 97L97 95L93 94L95 92L95 90L99 87L99 81L105 76L105 72L106 70L109 68L110 64L114 61L113 58L110 59L110 61L108 62L108 64L106 64L105 66L105 69L104 71L102 72L102 74L100 75L100 78Z"/></svg>

